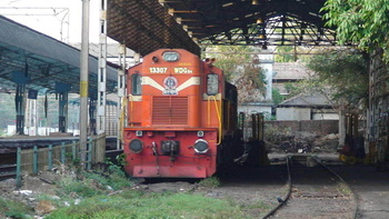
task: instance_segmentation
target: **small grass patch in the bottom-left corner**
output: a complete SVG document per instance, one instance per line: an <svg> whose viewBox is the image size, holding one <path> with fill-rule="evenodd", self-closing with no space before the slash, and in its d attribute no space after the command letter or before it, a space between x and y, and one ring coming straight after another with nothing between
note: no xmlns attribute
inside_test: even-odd
<svg viewBox="0 0 389 219"><path fill-rule="evenodd" d="M10 201L0 198L0 216L8 218L24 219L31 218L29 215L33 212L33 209L21 202Z"/></svg>

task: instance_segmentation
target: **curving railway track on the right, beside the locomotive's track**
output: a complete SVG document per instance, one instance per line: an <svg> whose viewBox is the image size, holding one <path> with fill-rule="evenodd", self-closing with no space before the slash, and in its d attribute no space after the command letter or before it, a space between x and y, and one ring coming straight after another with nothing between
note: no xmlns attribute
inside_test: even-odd
<svg viewBox="0 0 389 219"><path fill-rule="evenodd" d="M330 167L312 156L287 158L288 192L263 218L327 219L358 217L357 196Z"/></svg>

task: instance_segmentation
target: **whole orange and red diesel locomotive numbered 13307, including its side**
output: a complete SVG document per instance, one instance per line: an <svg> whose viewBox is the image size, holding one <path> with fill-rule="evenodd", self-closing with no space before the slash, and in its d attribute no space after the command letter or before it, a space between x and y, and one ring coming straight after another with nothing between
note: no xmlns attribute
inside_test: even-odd
<svg viewBox="0 0 389 219"><path fill-rule="evenodd" d="M207 178L232 161L237 89L183 49L160 49L128 69L126 171L141 178Z"/></svg>

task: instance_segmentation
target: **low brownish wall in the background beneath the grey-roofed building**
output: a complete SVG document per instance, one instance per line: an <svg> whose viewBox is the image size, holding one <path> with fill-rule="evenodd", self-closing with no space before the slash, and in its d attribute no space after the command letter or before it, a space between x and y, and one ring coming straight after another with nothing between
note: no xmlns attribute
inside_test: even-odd
<svg viewBox="0 0 389 219"><path fill-rule="evenodd" d="M265 121L265 129L279 130L287 136L325 136L339 132L338 120Z"/></svg>

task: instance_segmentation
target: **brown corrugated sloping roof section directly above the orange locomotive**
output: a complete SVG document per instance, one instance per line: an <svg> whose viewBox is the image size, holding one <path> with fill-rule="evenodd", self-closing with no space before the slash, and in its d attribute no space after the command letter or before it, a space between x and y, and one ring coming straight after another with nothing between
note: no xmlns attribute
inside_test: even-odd
<svg viewBox="0 0 389 219"><path fill-rule="evenodd" d="M108 36L141 56L161 48L200 54L199 46L156 0L110 0L107 16Z"/></svg>

